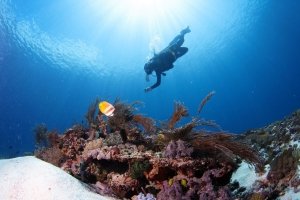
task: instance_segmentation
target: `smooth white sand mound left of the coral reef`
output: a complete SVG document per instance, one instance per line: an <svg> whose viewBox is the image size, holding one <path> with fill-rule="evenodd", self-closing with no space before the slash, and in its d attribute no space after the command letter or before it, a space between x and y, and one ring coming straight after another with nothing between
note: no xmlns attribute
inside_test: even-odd
<svg viewBox="0 0 300 200"><path fill-rule="evenodd" d="M0 160L0 200L107 200L33 156Z"/></svg>

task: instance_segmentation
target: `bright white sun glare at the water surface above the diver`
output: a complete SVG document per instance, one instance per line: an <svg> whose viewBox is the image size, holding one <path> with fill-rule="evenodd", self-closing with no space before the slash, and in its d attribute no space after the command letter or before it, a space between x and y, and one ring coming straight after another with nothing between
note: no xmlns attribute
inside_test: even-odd
<svg viewBox="0 0 300 200"><path fill-rule="evenodd" d="M166 25L185 16L184 0L89 0L96 12L124 27L144 26L149 29ZM102 15L103 16L103 15ZM176 21L175 21L176 22Z"/></svg>

